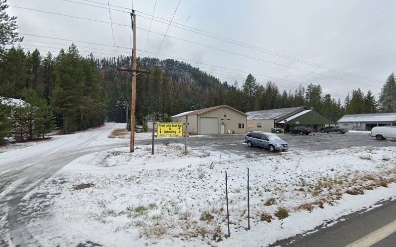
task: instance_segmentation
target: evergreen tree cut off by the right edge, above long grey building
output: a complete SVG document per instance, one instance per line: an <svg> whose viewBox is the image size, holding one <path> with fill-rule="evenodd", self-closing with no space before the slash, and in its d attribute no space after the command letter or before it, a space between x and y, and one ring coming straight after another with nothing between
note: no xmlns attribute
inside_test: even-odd
<svg viewBox="0 0 396 247"><path fill-rule="evenodd" d="M388 77L382 87L379 103L381 112L396 112L396 81L394 73Z"/></svg>

